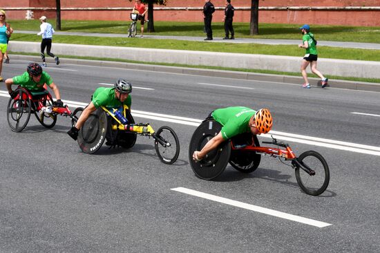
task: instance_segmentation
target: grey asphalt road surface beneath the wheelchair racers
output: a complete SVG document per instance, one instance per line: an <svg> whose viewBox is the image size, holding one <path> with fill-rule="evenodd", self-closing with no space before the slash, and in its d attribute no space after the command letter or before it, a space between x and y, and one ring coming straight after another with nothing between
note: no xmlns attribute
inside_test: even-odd
<svg viewBox="0 0 380 253"><path fill-rule="evenodd" d="M26 62L13 60L3 66L3 77L25 69ZM89 102L98 86L129 79L132 112L140 114L135 120L175 129L180 157L164 165L153 140L141 136L128 151L104 146L86 155L66 134L70 120L62 117L53 129L31 118L23 132L13 133L2 85L0 252L378 252L380 93L69 64L45 70L63 100L73 102ZM296 153L322 153L330 165L327 191L304 194L294 171L268 156L252 174L227 166L216 180L200 180L188 160L196 127L146 115L202 120L213 109L236 105L268 107L273 133ZM329 225L173 190L178 187Z"/></svg>

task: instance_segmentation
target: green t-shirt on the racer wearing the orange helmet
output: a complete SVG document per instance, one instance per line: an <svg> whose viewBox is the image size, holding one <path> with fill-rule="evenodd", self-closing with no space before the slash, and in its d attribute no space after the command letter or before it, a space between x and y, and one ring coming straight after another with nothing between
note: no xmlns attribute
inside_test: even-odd
<svg viewBox="0 0 380 253"><path fill-rule="evenodd" d="M256 111L244 106L234 106L216 109L212 113L212 118L222 124L222 138L227 140L240 133L249 133L249 120Z"/></svg>

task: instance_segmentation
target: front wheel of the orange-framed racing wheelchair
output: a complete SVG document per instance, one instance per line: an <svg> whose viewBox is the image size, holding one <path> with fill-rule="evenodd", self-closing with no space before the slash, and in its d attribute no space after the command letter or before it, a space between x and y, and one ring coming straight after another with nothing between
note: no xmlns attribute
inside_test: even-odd
<svg viewBox="0 0 380 253"><path fill-rule="evenodd" d="M330 171L325 158L316 151L306 151L297 158L296 180L305 193L318 196L330 182ZM314 175L308 174L302 167L312 169Z"/></svg>

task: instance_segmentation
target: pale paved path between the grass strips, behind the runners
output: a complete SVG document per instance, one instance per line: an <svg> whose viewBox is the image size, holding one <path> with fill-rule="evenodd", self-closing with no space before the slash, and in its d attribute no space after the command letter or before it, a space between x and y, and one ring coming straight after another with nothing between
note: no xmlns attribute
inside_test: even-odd
<svg viewBox="0 0 380 253"><path fill-rule="evenodd" d="M15 33L23 34L37 34L38 31L30 30L15 30ZM59 32L56 31L55 35L70 35L70 36L93 36L93 37L128 37L126 34L115 33L91 33L91 32ZM164 35L149 35L145 34L143 38L136 37L136 39L178 39L187 41L203 41L205 37L187 37L187 36L164 36ZM254 43L254 44L268 44L268 45L298 45L301 39L245 39L236 38L225 40L222 37L214 37L210 43ZM343 42L343 41L318 41L318 46L332 46L341 48L361 48L361 49L377 49L380 50L380 44L376 43L359 43L359 42Z"/></svg>

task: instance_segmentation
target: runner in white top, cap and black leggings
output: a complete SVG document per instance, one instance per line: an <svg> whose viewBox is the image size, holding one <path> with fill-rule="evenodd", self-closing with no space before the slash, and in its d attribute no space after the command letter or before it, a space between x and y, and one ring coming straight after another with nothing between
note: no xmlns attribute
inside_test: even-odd
<svg viewBox="0 0 380 253"><path fill-rule="evenodd" d="M46 22L46 17L42 16L39 18L39 21L41 22L41 32L38 32L37 35L42 35L42 41L41 41L41 58L42 58L42 66L46 67L45 62L45 48L46 53L53 57L55 60L55 64L59 64L59 57L55 56L53 53L50 52L51 49L51 41L53 39L53 33L55 32L52 25L50 25L48 22Z"/></svg>

